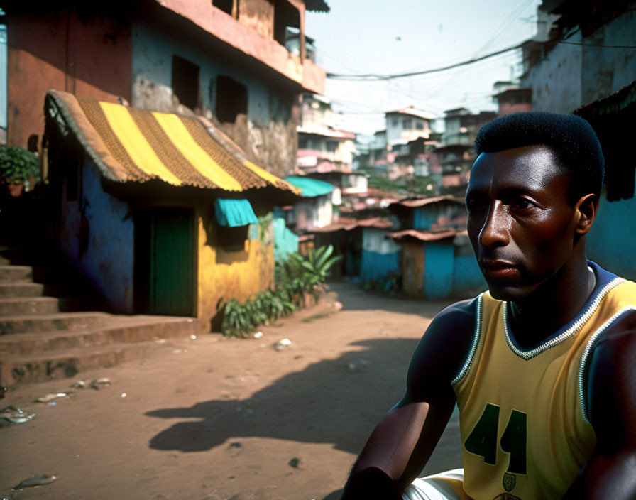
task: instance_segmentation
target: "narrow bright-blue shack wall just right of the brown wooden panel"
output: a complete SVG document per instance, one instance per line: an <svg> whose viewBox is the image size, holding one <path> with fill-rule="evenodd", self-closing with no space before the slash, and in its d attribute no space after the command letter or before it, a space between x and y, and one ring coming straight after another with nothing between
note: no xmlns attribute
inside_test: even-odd
<svg viewBox="0 0 636 500"><path fill-rule="evenodd" d="M441 299L453 295L454 259L453 244L424 243L424 297Z"/></svg>

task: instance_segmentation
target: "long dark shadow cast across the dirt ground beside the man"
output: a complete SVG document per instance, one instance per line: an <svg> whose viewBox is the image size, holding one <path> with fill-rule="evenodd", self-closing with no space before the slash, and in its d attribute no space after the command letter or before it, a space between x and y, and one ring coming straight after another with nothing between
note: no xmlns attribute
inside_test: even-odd
<svg viewBox="0 0 636 500"><path fill-rule="evenodd" d="M314 363L250 398L150 411L146 415L157 418L199 419L175 423L155 435L150 447L199 452L229 437L258 436L334 443L338 450L358 453L373 425L402 397L416 343L393 338L356 342L351 345L367 349ZM359 359L368 361L368 366L351 371L348 365Z"/></svg>

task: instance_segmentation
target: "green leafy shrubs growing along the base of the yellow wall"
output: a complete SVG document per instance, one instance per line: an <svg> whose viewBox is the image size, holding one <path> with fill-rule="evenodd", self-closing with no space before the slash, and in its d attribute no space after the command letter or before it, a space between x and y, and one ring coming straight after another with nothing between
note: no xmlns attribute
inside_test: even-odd
<svg viewBox="0 0 636 500"><path fill-rule="evenodd" d="M302 308L305 295L318 297L326 286L329 268L342 259L332 256L334 247L322 246L309 250L307 256L297 252L289 254L287 260L276 263L275 286L265 290L241 304L238 300L219 300L216 310L223 315L221 332L224 335L244 337L248 332L269 321L290 315Z"/></svg>

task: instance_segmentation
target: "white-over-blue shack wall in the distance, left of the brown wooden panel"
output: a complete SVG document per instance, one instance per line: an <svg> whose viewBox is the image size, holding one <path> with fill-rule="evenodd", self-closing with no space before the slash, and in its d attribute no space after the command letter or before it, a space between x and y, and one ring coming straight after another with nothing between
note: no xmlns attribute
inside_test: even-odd
<svg viewBox="0 0 636 500"><path fill-rule="evenodd" d="M362 283L399 275L402 268L402 247L386 238L388 231L365 227L362 230Z"/></svg>

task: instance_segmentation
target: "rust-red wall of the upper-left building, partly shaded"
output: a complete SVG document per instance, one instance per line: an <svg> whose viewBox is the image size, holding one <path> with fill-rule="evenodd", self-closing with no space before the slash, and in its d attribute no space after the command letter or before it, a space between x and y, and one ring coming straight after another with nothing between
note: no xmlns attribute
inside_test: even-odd
<svg viewBox="0 0 636 500"><path fill-rule="evenodd" d="M93 18L83 23L72 10L50 16L8 16L7 142L40 143L48 89L117 102L130 101L131 29L125 21Z"/></svg>

